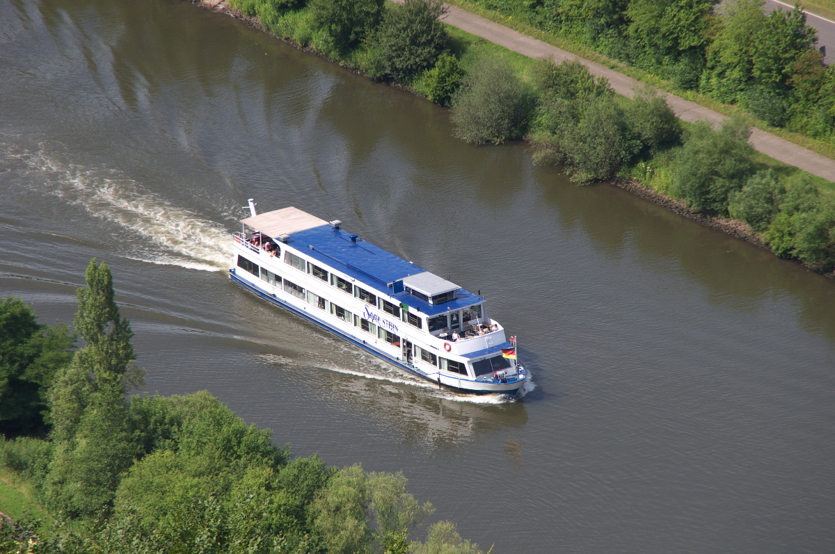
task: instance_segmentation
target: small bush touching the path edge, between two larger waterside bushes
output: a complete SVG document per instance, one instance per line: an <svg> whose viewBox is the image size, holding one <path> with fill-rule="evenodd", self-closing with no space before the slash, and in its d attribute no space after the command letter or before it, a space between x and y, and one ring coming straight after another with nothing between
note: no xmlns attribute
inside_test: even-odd
<svg viewBox="0 0 835 554"><path fill-rule="evenodd" d="M636 88L632 100L625 110L626 119L650 154L681 142L681 123L655 88Z"/></svg>

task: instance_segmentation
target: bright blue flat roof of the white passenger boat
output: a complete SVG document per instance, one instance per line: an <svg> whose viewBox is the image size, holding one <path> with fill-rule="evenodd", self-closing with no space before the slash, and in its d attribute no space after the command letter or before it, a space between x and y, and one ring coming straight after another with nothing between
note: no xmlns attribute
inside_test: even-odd
<svg viewBox="0 0 835 554"><path fill-rule="evenodd" d="M334 229L326 224L290 234L287 244L322 264L342 271L357 280L363 288L392 296L410 309L416 309L424 315L443 314L450 310L478 304L484 300L465 289L456 291L455 300L439 305L429 304L426 300L421 300L405 291L394 294L389 284L409 275L423 273L426 269L407 262L359 237L356 242L353 242L351 235L343 229Z"/></svg>

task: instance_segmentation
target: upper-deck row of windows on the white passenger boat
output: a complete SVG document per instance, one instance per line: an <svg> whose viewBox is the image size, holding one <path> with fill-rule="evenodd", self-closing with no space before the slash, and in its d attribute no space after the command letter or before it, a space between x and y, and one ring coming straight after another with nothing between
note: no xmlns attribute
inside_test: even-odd
<svg viewBox="0 0 835 554"><path fill-rule="evenodd" d="M258 275L258 265L252 263L248 259L245 259L243 256L238 256L238 265L243 269L246 269L244 265L241 265L240 260L245 260L245 264L251 264L256 269L251 270L250 273ZM316 264L306 261L305 259L301 259L301 257L293 254L292 252L286 252L284 258L286 264L291 265L292 267L304 271L307 274L311 274L316 279L322 280L326 283L329 283L334 288L338 290L342 290L342 292L352 295L363 302L374 306L378 310L382 310L388 315L392 315L396 317L398 320L402 320L413 327L417 327L417 329L423 329L423 320L415 314L412 314L408 311L408 308L403 305L396 305L392 304L388 300L377 298L377 295L363 289L361 286L353 285L350 281L342 279L342 277L336 274L329 274L326 269L319 267ZM271 283L273 286L281 286L276 285L275 283ZM469 324L474 320L479 320L482 317L482 307L480 304L469 306L468 308L464 308L463 310L455 310L452 312L448 312L446 314L436 315L435 317L428 318L427 325L428 330L430 333L442 330L448 330L452 332L453 330L461 330L462 323Z"/></svg>

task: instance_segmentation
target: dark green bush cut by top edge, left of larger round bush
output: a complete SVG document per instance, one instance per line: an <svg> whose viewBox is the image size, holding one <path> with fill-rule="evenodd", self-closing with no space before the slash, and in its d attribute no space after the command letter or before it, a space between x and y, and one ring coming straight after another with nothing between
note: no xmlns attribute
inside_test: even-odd
<svg viewBox="0 0 835 554"><path fill-rule="evenodd" d="M311 28L320 33L316 49L341 58L377 28L385 0L311 0Z"/></svg>

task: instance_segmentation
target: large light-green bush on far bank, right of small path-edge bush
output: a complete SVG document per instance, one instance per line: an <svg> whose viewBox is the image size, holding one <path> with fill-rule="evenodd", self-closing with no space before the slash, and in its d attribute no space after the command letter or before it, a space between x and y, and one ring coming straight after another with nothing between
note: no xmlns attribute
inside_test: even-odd
<svg viewBox="0 0 835 554"><path fill-rule="evenodd" d="M696 122L676 156L671 192L696 212L726 215L729 195L753 173L750 133L745 124L731 119L717 131L710 123Z"/></svg>

